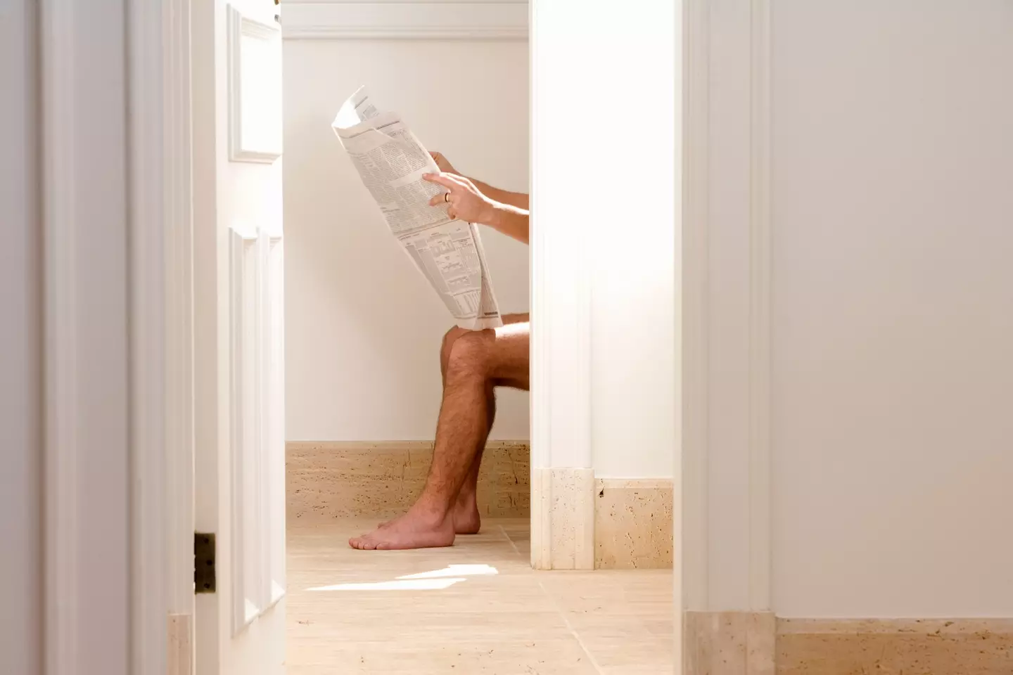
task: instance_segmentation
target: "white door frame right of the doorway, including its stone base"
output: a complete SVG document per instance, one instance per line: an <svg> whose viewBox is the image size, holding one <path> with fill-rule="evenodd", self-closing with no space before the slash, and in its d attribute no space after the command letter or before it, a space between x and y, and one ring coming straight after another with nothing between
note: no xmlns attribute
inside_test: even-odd
<svg viewBox="0 0 1013 675"><path fill-rule="evenodd" d="M707 0L681 1L683 200L677 210L682 217L677 318L683 365L675 541L682 547L676 558L682 597L681 604L677 597L676 620L678 625L685 619L682 642L692 648L714 639L718 615L751 617L759 636L753 654L758 663L769 665L776 630L771 480L774 3L738 0L715 12ZM748 130L745 138L736 136L742 130ZM712 209L712 203L722 208ZM735 206L730 216L728 204ZM729 233L745 242L746 256L729 252ZM729 309L729 296L745 302ZM721 321L712 322L712 312L718 311ZM743 342L729 346L729 325L731 330L748 328ZM710 364L728 359L739 366L731 377L721 375L719 388L711 382ZM719 422L712 420L711 410L721 410ZM738 442L712 442L715 424L739 430ZM739 482L734 472L743 467L747 480ZM714 495L725 500L730 495L736 507L712 508L720 506ZM748 555L738 556L743 551ZM734 590L729 594L727 589ZM699 661L710 656L690 652L684 654L687 672L713 665Z"/></svg>

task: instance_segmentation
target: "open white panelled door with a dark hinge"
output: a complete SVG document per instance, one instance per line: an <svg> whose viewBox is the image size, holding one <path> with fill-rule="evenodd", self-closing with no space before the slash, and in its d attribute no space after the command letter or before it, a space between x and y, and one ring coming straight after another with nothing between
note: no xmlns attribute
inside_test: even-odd
<svg viewBox="0 0 1013 675"><path fill-rule="evenodd" d="M197 564L215 569L214 581L196 584L198 675L285 671L282 40L276 9L274 0L191 4L194 521L199 533L214 535L214 559L208 555Z"/></svg>

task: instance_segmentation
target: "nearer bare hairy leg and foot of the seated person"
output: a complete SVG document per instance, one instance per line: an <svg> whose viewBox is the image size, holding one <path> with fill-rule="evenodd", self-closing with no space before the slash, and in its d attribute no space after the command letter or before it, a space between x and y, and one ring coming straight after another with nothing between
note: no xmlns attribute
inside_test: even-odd
<svg viewBox="0 0 1013 675"><path fill-rule="evenodd" d="M529 325L451 335L443 406L430 476L408 512L369 534L356 549L423 549L454 543L454 512L492 423L488 392L497 383L528 388ZM476 470L477 478L477 470Z"/></svg>

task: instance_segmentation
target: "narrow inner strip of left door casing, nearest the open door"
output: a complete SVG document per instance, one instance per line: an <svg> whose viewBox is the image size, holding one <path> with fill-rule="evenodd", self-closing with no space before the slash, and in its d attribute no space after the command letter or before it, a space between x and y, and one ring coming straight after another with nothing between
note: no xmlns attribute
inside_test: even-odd
<svg viewBox="0 0 1013 675"><path fill-rule="evenodd" d="M168 643L164 123L165 0L127 3L131 672L164 670ZM175 505L173 505L175 508ZM158 670L155 670L158 669Z"/></svg>

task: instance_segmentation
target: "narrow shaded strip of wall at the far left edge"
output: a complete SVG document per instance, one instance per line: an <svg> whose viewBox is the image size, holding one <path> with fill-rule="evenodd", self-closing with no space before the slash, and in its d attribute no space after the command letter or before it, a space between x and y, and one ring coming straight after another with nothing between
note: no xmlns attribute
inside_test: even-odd
<svg viewBox="0 0 1013 675"><path fill-rule="evenodd" d="M35 3L0 21L0 672L42 672L42 230Z"/></svg>

